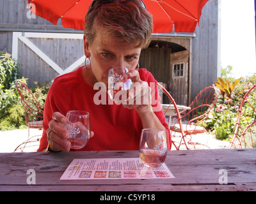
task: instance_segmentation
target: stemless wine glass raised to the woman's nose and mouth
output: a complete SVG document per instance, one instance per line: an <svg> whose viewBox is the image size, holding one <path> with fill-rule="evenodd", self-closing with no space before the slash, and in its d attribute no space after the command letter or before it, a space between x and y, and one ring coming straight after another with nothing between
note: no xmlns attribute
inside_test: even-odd
<svg viewBox="0 0 256 204"><path fill-rule="evenodd" d="M114 67L108 71L108 94L113 101L123 102L129 99L131 79L127 78L127 68Z"/></svg>

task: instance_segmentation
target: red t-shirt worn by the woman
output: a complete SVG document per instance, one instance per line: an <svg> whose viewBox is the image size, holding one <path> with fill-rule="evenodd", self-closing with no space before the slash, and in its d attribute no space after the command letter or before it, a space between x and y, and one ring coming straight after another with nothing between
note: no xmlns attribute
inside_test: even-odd
<svg viewBox="0 0 256 204"><path fill-rule="evenodd" d="M141 80L148 84L149 82L156 83L147 69L138 71ZM106 105L95 105L93 97L99 96L99 90L93 90L93 87L84 81L82 67L56 77L45 101L44 131L38 151L47 147L46 130L49 128L49 121L52 120L52 113L60 112L66 115L69 110L84 110L90 113L91 129L94 136L80 150L138 150L140 133L143 129L138 113L135 110L124 108L122 105L116 105L113 101L108 100L106 91L104 94L107 98ZM160 105L160 101L157 101L157 105ZM163 111L160 109L154 113L166 128L168 149L170 149L170 130Z"/></svg>

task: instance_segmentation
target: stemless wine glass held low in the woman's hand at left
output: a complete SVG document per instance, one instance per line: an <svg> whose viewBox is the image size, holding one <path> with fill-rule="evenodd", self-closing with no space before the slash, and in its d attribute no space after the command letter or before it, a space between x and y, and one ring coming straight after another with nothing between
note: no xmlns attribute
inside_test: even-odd
<svg viewBox="0 0 256 204"><path fill-rule="evenodd" d="M67 129L72 149L82 149L90 138L91 122L90 114L81 110L70 110L67 112Z"/></svg>

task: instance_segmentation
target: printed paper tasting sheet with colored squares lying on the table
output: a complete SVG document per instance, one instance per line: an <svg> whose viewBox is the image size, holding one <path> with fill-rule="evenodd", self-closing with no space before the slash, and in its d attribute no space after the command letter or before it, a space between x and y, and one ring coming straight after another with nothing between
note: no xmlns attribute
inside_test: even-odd
<svg viewBox="0 0 256 204"><path fill-rule="evenodd" d="M172 179L171 171L163 164L147 168L140 158L74 159L60 180L77 179Z"/></svg>

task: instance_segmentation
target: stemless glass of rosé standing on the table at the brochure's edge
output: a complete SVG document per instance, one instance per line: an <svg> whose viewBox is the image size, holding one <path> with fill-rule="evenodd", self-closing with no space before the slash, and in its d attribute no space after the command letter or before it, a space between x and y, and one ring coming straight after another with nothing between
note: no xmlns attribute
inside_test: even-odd
<svg viewBox="0 0 256 204"><path fill-rule="evenodd" d="M161 166L167 154L166 135L161 129L142 129L140 135L140 159L150 168Z"/></svg>

